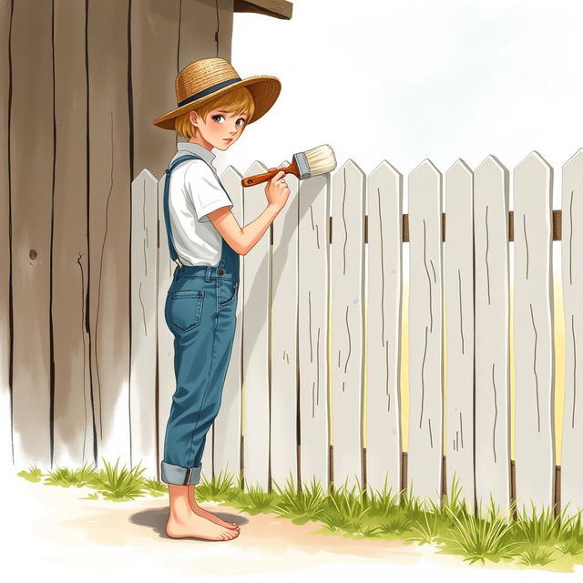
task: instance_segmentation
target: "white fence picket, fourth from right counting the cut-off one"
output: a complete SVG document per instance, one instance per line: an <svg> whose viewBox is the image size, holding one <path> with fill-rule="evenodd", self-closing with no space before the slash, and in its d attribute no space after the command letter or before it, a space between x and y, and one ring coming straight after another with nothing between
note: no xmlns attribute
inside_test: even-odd
<svg viewBox="0 0 583 583"><path fill-rule="evenodd" d="M458 159L445 172L445 476L447 494L473 512L474 487L474 185Z"/></svg>

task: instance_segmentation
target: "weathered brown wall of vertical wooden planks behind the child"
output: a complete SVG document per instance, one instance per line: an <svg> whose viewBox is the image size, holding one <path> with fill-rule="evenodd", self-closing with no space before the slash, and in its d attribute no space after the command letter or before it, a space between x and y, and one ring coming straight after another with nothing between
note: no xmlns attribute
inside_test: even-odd
<svg viewBox="0 0 583 583"><path fill-rule="evenodd" d="M130 458L130 185L233 0L0 0L0 460ZM12 437L12 439L11 439Z"/></svg>

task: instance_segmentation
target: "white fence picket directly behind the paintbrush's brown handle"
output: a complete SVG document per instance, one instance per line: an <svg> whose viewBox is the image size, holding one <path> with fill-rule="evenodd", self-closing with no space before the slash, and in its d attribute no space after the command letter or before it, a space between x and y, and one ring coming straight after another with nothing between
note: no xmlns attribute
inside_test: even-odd
<svg viewBox="0 0 583 583"><path fill-rule="evenodd" d="M261 174L267 169L255 162L245 176ZM265 184L246 188L243 193L243 219L255 220L265 210ZM270 230L243 257L245 281L243 300L243 386L244 485L268 488L270 452L269 406L269 319L271 253Z"/></svg>

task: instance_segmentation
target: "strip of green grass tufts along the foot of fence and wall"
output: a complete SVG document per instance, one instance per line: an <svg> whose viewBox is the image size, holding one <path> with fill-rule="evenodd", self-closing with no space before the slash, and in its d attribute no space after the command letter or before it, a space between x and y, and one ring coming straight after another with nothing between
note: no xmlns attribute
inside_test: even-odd
<svg viewBox="0 0 583 583"><path fill-rule="evenodd" d="M83 465L73 470L56 467L43 473L36 465L18 474L32 482L52 486L89 486L85 499L133 500L141 496L165 496L168 486L143 476L140 465L128 468L103 461L99 470ZM490 496L486 512L468 509L454 476L451 492L440 500L424 503L413 490L393 492L331 485L325 491L320 482L298 486L290 474L285 486L274 482L271 492L258 485L242 487L240 475L221 472L211 479L202 477L196 487L199 501L233 506L251 515L274 513L295 524L312 522L315 533L337 533L344 537L402 540L405 544L432 545L438 552L463 557L468 564L509 562L518 567L573 572L583 564L583 511L568 517L564 508L555 517L554 508L516 513L516 505L500 516ZM269 534L267 534L269 536ZM314 543L316 545L317 543Z"/></svg>

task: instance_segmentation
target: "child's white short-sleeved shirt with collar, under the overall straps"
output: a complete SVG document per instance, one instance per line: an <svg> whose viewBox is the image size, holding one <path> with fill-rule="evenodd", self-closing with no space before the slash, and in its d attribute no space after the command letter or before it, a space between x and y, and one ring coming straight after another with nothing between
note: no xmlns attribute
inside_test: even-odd
<svg viewBox="0 0 583 583"><path fill-rule="evenodd" d="M215 154L192 142L179 142L177 149L172 160L188 154L201 159L186 160L170 174L168 204L174 247L183 265L218 265L222 238L207 215L233 205L209 166Z"/></svg>

